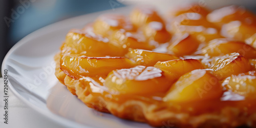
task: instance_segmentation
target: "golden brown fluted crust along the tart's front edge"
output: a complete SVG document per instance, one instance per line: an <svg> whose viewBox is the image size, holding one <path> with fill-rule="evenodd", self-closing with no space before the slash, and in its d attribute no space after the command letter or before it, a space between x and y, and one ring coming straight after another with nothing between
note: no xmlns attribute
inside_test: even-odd
<svg viewBox="0 0 256 128"><path fill-rule="evenodd" d="M56 77L84 104L97 111L111 113L123 119L147 122L156 127L256 127L256 113L246 114L231 106L222 108L220 112L189 115L185 112L177 113L172 109L159 109L155 104L140 100L127 100L122 104L106 100L91 93L89 82L80 82L63 73L59 69L59 59L60 53L55 56Z"/></svg>

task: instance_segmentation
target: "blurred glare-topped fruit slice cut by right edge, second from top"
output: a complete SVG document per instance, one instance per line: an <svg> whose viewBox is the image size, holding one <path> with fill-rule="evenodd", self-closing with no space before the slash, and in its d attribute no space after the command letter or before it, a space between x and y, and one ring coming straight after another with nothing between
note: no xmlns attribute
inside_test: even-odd
<svg viewBox="0 0 256 128"><path fill-rule="evenodd" d="M245 40L256 33L256 26L247 25L236 20L222 26L221 35L228 38Z"/></svg>

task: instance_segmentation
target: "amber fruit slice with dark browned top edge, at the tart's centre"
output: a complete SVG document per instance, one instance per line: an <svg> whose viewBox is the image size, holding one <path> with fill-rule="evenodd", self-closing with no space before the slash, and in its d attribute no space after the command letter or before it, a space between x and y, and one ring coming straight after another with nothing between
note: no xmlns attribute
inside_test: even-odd
<svg viewBox="0 0 256 128"><path fill-rule="evenodd" d="M154 67L168 71L169 73L174 74L177 78L190 71L204 69L202 63L197 59L175 59L164 62L159 61Z"/></svg>

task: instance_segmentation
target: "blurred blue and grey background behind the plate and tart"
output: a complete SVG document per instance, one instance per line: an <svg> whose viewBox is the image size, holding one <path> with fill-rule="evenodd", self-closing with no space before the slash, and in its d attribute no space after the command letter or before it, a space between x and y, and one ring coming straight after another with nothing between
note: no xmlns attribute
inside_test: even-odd
<svg viewBox="0 0 256 128"><path fill-rule="evenodd" d="M152 4L166 11L176 5L195 2L212 9L234 4L256 11L254 0L0 0L0 65L17 41L59 20L134 4Z"/></svg>

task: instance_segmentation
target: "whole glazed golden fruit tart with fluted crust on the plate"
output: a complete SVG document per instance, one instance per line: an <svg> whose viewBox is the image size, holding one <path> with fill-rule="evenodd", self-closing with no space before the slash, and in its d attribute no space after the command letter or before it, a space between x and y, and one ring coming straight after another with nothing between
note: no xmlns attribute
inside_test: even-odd
<svg viewBox="0 0 256 128"><path fill-rule="evenodd" d="M256 16L238 6L103 14L72 29L55 75L84 104L161 127L256 127Z"/></svg>

